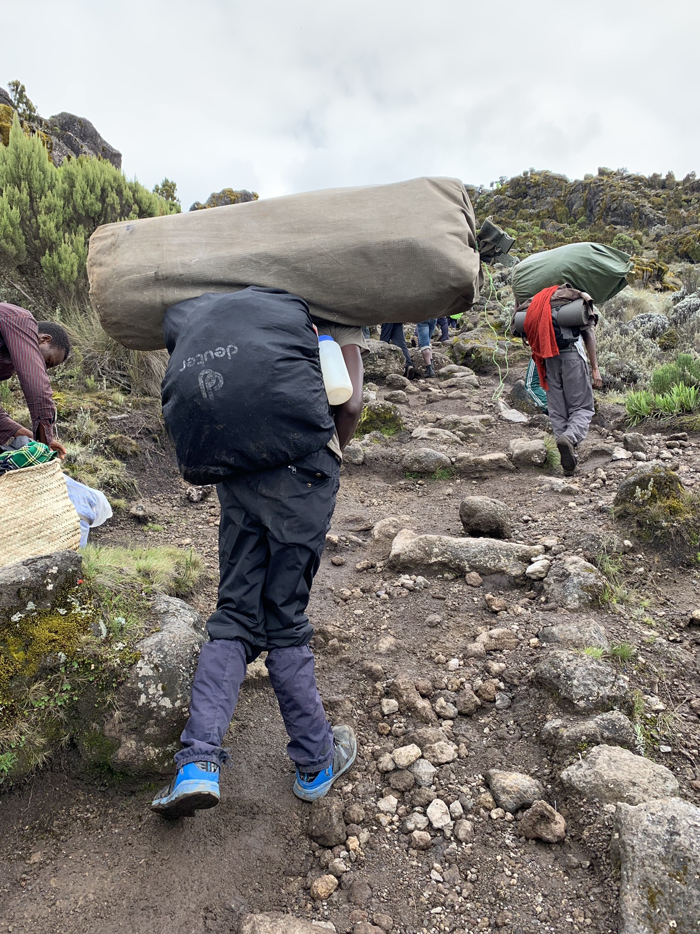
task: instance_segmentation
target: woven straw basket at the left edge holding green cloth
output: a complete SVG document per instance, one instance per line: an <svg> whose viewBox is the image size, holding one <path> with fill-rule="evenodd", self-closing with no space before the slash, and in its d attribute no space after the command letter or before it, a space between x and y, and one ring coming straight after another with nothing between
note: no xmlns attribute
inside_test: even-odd
<svg viewBox="0 0 700 934"><path fill-rule="evenodd" d="M0 475L0 568L54 551L77 551L80 520L60 460Z"/></svg>

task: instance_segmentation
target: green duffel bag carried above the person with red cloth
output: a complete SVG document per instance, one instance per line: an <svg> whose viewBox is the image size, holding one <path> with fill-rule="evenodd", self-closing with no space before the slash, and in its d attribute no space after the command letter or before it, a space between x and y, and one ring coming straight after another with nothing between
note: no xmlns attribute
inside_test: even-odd
<svg viewBox="0 0 700 934"><path fill-rule="evenodd" d="M588 292L595 303L607 302L627 285L633 262L627 253L602 243L569 243L566 247L533 253L512 273L512 290L519 303L549 286Z"/></svg>

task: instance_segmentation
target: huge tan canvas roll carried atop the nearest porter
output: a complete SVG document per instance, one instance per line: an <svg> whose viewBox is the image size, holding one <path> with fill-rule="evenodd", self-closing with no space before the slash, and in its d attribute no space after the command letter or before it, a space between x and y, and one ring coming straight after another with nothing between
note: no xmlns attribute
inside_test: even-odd
<svg viewBox="0 0 700 934"><path fill-rule="evenodd" d="M414 178L106 224L88 276L105 331L155 350L170 305L251 285L341 324L457 314L479 297L481 262L462 182Z"/></svg>

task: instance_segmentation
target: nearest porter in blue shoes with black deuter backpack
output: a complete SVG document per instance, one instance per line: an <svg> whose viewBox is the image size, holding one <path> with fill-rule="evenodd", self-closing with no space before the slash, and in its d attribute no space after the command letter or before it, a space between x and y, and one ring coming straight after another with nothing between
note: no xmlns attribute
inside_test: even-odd
<svg viewBox="0 0 700 934"><path fill-rule="evenodd" d="M341 346L353 394L331 412L308 305L250 287L165 313L171 361L165 424L180 471L217 483L221 503L216 611L192 684L175 778L151 808L184 817L219 800L222 743L246 665L267 651L302 800L322 798L357 756L350 727L331 728L318 694L306 606L340 484L342 449L362 409L359 327L316 321Z"/></svg>

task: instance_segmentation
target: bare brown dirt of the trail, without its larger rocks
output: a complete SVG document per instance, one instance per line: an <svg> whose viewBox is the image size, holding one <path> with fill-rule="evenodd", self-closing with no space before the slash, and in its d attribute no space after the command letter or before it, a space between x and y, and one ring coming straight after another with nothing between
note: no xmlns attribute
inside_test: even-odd
<svg viewBox="0 0 700 934"><path fill-rule="evenodd" d="M511 374L509 381L517 375ZM497 417L495 377L483 376L480 383L469 400L428 405L425 391L411 395L410 405L401 406L409 428L448 412L495 415L493 427L453 454L504 451L511 438L537 434L536 427ZM210 576L192 602L207 616L216 601L217 502L188 502L172 451L162 435L153 440L153 426L146 422L125 419L119 431L132 432L142 444L143 453L130 469L163 530L146 531L121 517L93 533L93 540L193 545ZM609 427L600 432L610 441ZM592 432L592 439L600 440L600 433ZM698 440L691 438L691 446L680 452L688 485L694 475L700 482L700 447L693 446ZM99 784L81 774L72 750L26 785L0 796L2 934L223 932L236 929L244 910L288 911L329 921L342 932L362 920L431 934L617 930L618 881L609 859L614 809L592 808L560 785L559 773L573 758L554 754L542 743L540 730L561 711L532 680L542 653L536 641L539 630L576 615L544 602L540 586L511 587L505 579L469 587L464 578L441 576L430 578L425 589L397 587L397 573L376 567L378 562L381 568L390 543L373 541L370 530L383 517L405 515L412 518L407 524L415 531L462 534L459 502L478 492L508 503L515 540L537 544L542 537L556 537L567 551L593 554L601 535L628 534L616 529L605 511L623 468L610 463L609 453L594 452L581 464L580 490L564 494L539 489L542 471L535 469L473 480L417 481L392 462L407 444L418 446L408 432L378 445L371 463L343 468L331 528L337 544L324 553L309 608L322 631L315 653L329 717L357 729L357 766L332 792L344 804L361 805L365 813L360 824L364 842L351 868L355 884L347 884L350 880L343 876L327 902L310 898L308 884L329 857L305 832L308 806L291 792L293 770L285 754L284 727L268 682L258 678L246 682L242 691L227 739L231 768L223 771L222 801L213 811L165 823L148 811L161 783L103 779ZM590 489L598 468L607 474L607 483ZM366 559L375 567L357 571L356 563ZM699 804L700 721L689 704L700 694L695 667L700 637L697 630L684 628L689 612L700 605L699 575L669 567L663 555L638 545L628 550L623 563L625 582L637 592L635 600L594 607L580 616L605 625L610 642L637 647L633 660L619 664L631 686L648 695L658 693L666 713L665 735L650 741L646 755L674 771L682 797ZM488 591L508 601L508 625L519 626L518 648L489 653L485 662L463 659L457 673L473 680L488 677L494 662L505 665L498 677L511 705L497 710L484 703L475 715L443 724L461 752L436 779L443 800L460 800L465 809L471 808L467 816L473 820L475 839L455 844L438 838L429 850L416 853L400 824L384 828L375 817L377 801L385 794L385 776L377 771L376 758L399 742L402 729L414 726L407 717L383 717L378 699L399 673L428 678L435 690L446 687L450 674L445 660L459 658L460 648L479 627L504 625L500 617L495 622L484 602ZM438 622L427 622L436 615ZM381 636L395 641L377 648ZM381 671L363 667L368 661ZM660 746L670 751L662 752ZM492 819L473 805L486 790L483 773L493 767L539 778L546 799L567 820L565 842L525 841L516 821ZM399 806L407 805L411 794L397 792Z"/></svg>

